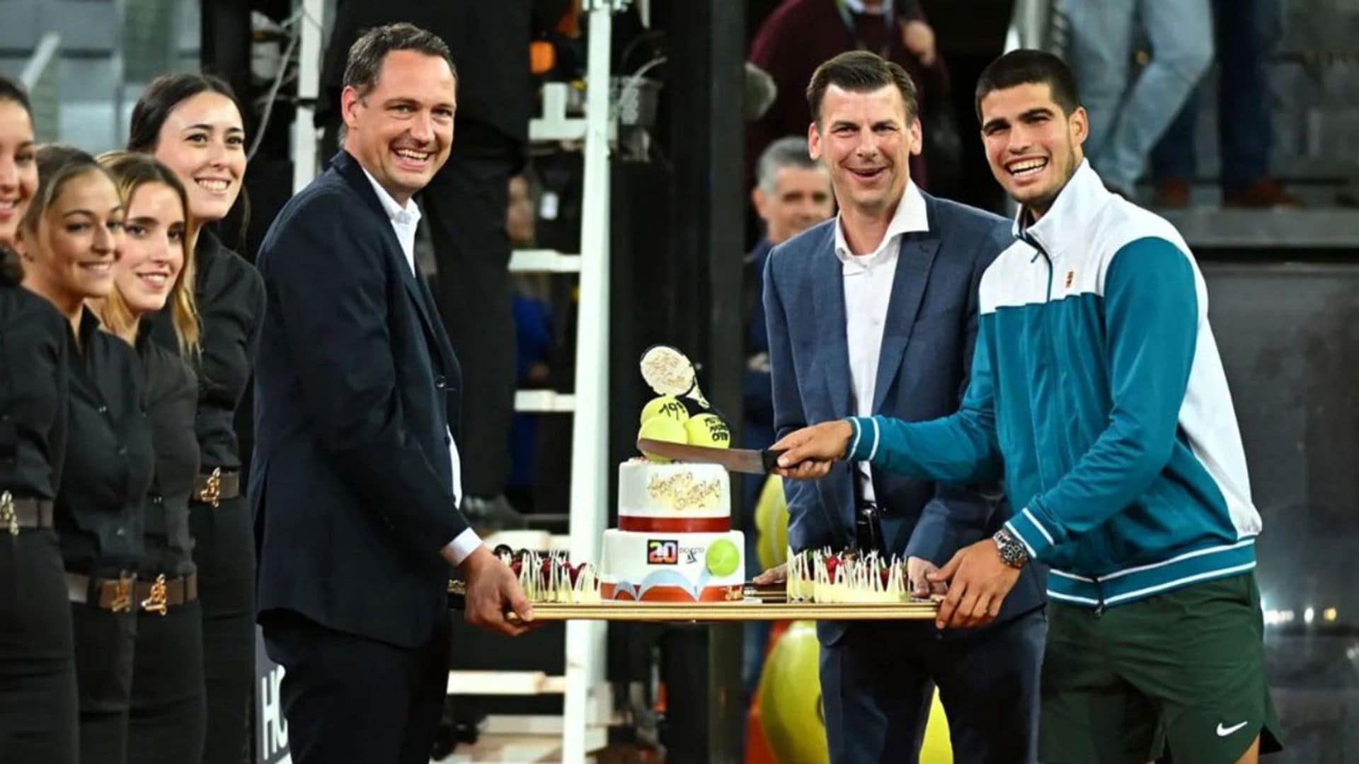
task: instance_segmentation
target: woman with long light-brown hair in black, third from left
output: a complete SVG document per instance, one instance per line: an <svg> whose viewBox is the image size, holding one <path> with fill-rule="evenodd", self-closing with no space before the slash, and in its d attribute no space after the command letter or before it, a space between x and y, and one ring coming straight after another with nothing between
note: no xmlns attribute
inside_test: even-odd
<svg viewBox="0 0 1359 764"><path fill-rule="evenodd" d="M137 570L128 761L193 764L202 759L207 708L189 536L189 496L198 476L198 382L188 363L198 351L193 261L183 238L189 200L179 178L145 154L111 152L99 164L118 185L126 215L114 288L98 313L105 329L136 347L141 359L156 454ZM151 315L158 311L169 314L178 351L151 340Z"/></svg>

